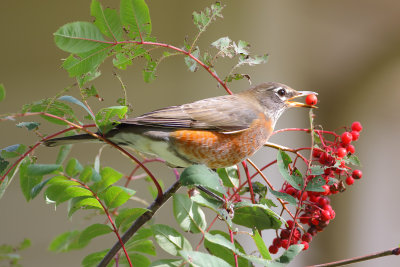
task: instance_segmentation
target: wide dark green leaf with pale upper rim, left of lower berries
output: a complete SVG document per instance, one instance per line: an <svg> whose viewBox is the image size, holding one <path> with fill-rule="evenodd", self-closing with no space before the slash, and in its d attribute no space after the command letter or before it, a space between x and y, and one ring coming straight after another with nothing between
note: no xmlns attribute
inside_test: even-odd
<svg viewBox="0 0 400 267"><path fill-rule="evenodd" d="M235 205L235 216L232 221L248 228L279 229L282 222L279 215L265 205L240 202Z"/></svg>

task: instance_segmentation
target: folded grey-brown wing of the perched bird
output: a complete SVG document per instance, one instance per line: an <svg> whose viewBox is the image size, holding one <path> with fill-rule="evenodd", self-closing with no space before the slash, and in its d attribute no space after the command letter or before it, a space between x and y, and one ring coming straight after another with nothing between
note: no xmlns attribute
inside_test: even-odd
<svg viewBox="0 0 400 267"><path fill-rule="evenodd" d="M240 131L247 129L259 116L259 106L251 105L238 95L226 95L155 110L120 122L122 125Z"/></svg>

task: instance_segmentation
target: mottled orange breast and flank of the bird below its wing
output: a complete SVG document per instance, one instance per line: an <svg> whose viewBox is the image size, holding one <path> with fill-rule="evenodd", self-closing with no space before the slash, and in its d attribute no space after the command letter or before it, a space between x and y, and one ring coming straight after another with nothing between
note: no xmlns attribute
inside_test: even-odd
<svg viewBox="0 0 400 267"><path fill-rule="evenodd" d="M188 160L210 168L222 168L253 155L265 144L272 130L271 123L262 115L241 132L178 130L171 133L170 140L176 152Z"/></svg>

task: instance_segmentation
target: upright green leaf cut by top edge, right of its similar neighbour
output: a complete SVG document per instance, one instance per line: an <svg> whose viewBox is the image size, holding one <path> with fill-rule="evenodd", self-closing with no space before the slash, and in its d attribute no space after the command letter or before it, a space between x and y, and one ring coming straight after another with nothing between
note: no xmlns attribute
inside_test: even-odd
<svg viewBox="0 0 400 267"><path fill-rule="evenodd" d="M144 0L121 0L120 16L132 39L151 34L150 12Z"/></svg>

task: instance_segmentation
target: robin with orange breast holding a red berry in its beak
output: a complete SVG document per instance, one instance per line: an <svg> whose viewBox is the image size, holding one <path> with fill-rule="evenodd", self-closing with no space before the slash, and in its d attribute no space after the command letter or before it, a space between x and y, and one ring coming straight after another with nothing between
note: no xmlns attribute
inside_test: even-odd
<svg viewBox="0 0 400 267"><path fill-rule="evenodd" d="M205 164L235 165L253 155L270 137L279 116L290 107L314 107L294 98L315 94L295 91L275 82L262 83L238 94L171 106L136 118L120 120L105 138L173 167ZM97 141L89 134L54 138L46 146Z"/></svg>

